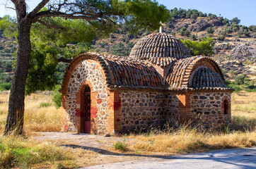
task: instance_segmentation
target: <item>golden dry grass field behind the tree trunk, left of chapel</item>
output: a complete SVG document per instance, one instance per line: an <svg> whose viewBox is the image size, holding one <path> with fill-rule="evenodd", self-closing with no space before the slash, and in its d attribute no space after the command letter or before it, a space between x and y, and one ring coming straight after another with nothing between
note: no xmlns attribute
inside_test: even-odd
<svg viewBox="0 0 256 169"><path fill-rule="evenodd" d="M0 94L0 101L0 132L2 132L8 112L8 94ZM25 131L28 133L58 132L61 127L60 111L60 109L54 107L49 95L31 94L30 96L26 96Z"/></svg>

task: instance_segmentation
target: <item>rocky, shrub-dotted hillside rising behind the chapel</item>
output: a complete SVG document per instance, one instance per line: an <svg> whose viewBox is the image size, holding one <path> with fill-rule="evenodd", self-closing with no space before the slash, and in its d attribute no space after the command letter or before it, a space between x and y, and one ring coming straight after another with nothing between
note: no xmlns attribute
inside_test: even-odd
<svg viewBox="0 0 256 169"><path fill-rule="evenodd" d="M179 39L201 41L204 37L214 39L214 59L219 63L228 80L233 81L237 75L245 74L253 85L256 80L256 26L239 25L240 20L228 20L211 13L197 10L174 8L170 10L171 19L163 24L163 32ZM91 51L98 53L129 56L134 44L149 32L141 29L137 35L129 33L130 26L121 24L119 28L105 39L95 39ZM156 31L157 32L157 31ZM0 69L11 73L13 52L16 51L14 40L6 39L0 32ZM64 70L64 69L62 69Z"/></svg>

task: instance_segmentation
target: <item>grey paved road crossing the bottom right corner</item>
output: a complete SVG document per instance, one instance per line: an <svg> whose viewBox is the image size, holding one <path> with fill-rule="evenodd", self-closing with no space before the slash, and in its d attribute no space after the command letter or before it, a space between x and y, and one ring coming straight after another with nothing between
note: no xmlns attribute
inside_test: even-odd
<svg viewBox="0 0 256 169"><path fill-rule="evenodd" d="M253 168L256 169L256 147L247 149L226 149L200 154L169 156L164 158L146 158L142 161L127 161L94 165L87 168L117 168L117 169L201 169L201 168ZM86 168L83 168L86 169Z"/></svg>

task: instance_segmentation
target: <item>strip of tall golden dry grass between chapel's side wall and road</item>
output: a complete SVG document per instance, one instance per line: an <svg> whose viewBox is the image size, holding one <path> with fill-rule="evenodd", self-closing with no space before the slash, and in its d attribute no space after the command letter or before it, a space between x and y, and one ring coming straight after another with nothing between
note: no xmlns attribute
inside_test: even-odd
<svg viewBox="0 0 256 169"><path fill-rule="evenodd" d="M171 132L151 132L129 135L133 138L127 149L142 154L161 152L165 154L184 154L210 149L228 149L256 146L256 131L209 133L198 132L190 127L181 127Z"/></svg>

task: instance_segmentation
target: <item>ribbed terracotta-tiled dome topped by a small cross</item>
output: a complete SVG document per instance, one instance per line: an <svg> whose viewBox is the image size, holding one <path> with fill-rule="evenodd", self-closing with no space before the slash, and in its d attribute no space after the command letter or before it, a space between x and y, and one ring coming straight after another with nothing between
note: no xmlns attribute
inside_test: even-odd
<svg viewBox="0 0 256 169"><path fill-rule="evenodd" d="M190 57L184 44L167 33L153 33L139 39L129 55L165 67L180 58Z"/></svg>

